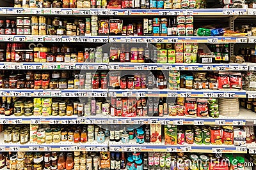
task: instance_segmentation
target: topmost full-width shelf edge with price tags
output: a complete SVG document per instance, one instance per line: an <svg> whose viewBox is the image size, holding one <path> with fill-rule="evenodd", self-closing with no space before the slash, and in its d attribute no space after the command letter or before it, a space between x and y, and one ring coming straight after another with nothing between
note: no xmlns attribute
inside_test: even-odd
<svg viewBox="0 0 256 170"><path fill-rule="evenodd" d="M255 15L249 10L250 15ZM0 8L1 15L247 15L246 9L70 9L70 8Z"/></svg>

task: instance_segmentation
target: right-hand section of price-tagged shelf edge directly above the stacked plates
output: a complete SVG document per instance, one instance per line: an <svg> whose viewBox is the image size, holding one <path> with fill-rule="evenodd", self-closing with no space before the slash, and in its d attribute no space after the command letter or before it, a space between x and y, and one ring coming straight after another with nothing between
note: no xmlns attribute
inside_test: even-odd
<svg viewBox="0 0 256 170"><path fill-rule="evenodd" d="M110 97L246 97L245 90L111 90Z"/></svg>

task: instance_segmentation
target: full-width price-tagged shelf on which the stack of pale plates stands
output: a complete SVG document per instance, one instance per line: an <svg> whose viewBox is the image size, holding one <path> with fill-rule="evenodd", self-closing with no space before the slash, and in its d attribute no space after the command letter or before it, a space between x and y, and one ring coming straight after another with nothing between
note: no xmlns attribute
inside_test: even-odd
<svg viewBox="0 0 256 170"><path fill-rule="evenodd" d="M252 123L253 122L253 123ZM77 116L31 116L31 117L10 117L0 116L0 124L120 124L120 125L143 125L143 124L161 124L161 125L251 125L256 123L256 113L241 108L238 117L111 117L96 115L90 117Z"/></svg>

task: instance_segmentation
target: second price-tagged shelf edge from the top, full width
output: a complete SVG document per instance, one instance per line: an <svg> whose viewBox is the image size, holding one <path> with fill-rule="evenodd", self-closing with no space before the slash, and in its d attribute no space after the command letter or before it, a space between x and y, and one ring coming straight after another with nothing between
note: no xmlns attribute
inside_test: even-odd
<svg viewBox="0 0 256 170"><path fill-rule="evenodd" d="M4 35L0 42L62 43L247 43L243 36L31 36Z"/></svg>

